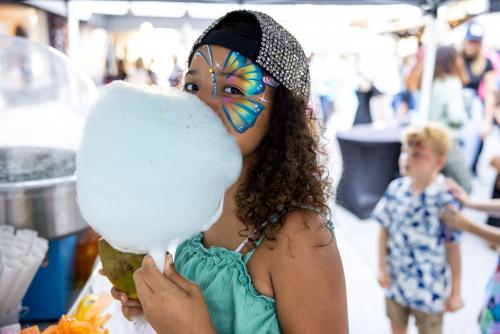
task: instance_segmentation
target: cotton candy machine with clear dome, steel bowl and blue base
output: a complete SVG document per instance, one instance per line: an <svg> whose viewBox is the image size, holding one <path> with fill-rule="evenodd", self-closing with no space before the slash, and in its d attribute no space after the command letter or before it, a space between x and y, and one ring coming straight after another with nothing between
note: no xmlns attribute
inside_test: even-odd
<svg viewBox="0 0 500 334"><path fill-rule="evenodd" d="M61 52L0 35L0 226L33 229L49 240L21 303L22 321L67 311L78 232L87 228L76 203L75 152L96 93ZM0 272L2 279L17 278Z"/></svg>

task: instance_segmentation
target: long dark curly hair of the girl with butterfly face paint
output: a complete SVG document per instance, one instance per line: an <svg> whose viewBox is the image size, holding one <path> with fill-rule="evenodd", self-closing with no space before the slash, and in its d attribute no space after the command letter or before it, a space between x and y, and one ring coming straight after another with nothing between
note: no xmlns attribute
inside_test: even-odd
<svg viewBox="0 0 500 334"><path fill-rule="evenodd" d="M269 132L235 194L236 215L247 226L242 233L253 227L262 230L268 240L275 240L281 220L265 228L261 224L273 215L281 217L304 206L330 217L328 201L333 190L316 124L307 101L282 85L276 88Z"/></svg>

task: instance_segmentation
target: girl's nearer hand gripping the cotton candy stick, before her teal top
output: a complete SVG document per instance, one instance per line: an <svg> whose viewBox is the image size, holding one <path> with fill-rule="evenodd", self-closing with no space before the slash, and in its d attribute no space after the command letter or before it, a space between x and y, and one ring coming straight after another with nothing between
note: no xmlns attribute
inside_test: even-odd
<svg viewBox="0 0 500 334"><path fill-rule="evenodd" d="M134 281L144 316L158 334L216 333L200 289L175 271L170 254L163 274L145 256Z"/></svg>

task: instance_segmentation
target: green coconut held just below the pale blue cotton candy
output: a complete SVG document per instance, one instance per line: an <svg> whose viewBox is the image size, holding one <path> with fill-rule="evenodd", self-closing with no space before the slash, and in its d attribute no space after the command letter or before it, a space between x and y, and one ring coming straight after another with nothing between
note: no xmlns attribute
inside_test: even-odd
<svg viewBox="0 0 500 334"><path fill-rule="evenodd" d="M114 249L104 239L99 240L99 256L102 268L113 286L127 294L130 299L137 299L133 274L141 267L145 254L131 254Z"/></svg>

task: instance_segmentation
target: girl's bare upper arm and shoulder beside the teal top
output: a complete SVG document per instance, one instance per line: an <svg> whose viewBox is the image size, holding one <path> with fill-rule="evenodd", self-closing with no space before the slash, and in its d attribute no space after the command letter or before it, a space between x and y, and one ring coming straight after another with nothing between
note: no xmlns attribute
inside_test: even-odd
<svg viewBox="0 0 500 334"><path fill-rule="evenodd" d="M276 239L269 252L269 273L283 332L347 334L342 261L323 219L306 210L294 211Z"/></svg>

